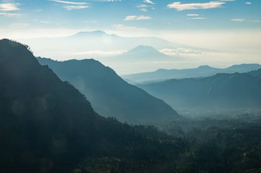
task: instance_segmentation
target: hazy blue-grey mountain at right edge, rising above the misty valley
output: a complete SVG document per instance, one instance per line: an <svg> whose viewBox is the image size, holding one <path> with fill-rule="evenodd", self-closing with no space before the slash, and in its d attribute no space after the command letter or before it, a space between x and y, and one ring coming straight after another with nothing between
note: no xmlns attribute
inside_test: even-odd
<svg viewBox="0 0 261 173"><path fill-rule="evenodd" d="M239 108L261 108L260 70L218 73L208 78L166 80L139 87L175 106L177 110L223 112Z"/></svg>

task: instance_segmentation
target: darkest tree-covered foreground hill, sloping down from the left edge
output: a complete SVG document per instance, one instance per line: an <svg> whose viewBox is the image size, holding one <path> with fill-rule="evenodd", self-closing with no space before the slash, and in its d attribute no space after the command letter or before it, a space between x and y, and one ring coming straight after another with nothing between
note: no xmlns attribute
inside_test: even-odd
<svg viewBox="0 0 261 173"><path fill-rule="evenodd" d="M25 45L1 40L0 55L1 172L159 172L174 161L177 141L101 117Z"/></svg>

